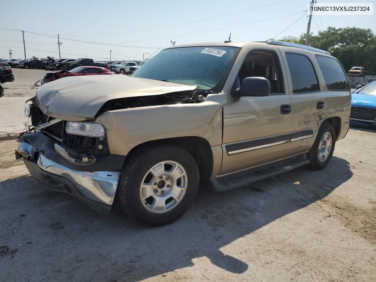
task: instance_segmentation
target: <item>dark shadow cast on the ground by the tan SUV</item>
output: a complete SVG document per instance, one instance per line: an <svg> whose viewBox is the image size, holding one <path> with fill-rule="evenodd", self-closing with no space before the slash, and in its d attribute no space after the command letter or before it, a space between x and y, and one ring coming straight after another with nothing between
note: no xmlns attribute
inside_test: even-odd
<svg viewBox="0 0 376 282"><path fill-rule="evenodd" d="M351 176L349 163L333 157L324 170L303 167L237 190L212 193L202 186L180 220L158 228L139 226L118 209L110 215L99 214L70 195L45 191L23 176L0 182L0 187L20 190L20 195L9 192L7 204L0 205L0 222L9 220L11 225L5 228L0 245L18 245L20 238L33 242L18 249L19 258L12 264L36 261L44 267L34 268L33 275L51 273L54 281L139 281L193 266L192 260L200 257L232 273L243 273L247 262L224 254L222 247L326 197ZM16 203L21 208L15 208ZM6 209L12 218L21 212L26 216L22 221L4 218L9 214ZM12 235L13 229L19 238ZM15 275L19 280L29 275L25 268L17 274L2 268L9 281ZM183 271L174 274L187 279Z"/></svg>

